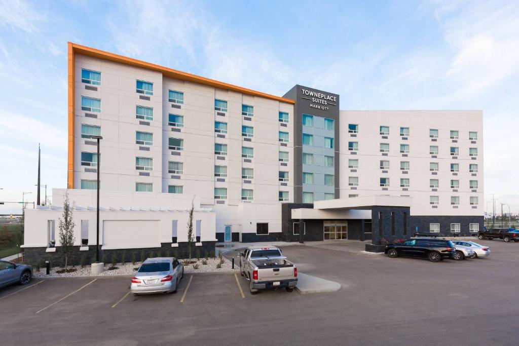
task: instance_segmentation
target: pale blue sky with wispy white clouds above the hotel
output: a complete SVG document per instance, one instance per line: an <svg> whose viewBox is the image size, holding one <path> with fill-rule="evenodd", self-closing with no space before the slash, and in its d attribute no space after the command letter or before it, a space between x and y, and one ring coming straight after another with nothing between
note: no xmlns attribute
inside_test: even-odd
<svg viewBox="0 0 519 346"><path fill-rule="evenodd" d="M518 1L0 0L0 201L66 187L67 41L340 109L482 109L484 189L519 212ZM42 190L42 196L44 195ZM43 200L43 197L42 197ZM504 206L504 211L508 207ZM21 204L0 205L0 214Z"/></svg>

